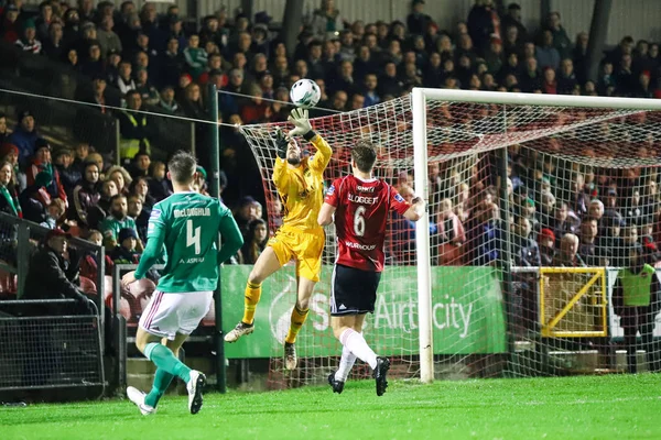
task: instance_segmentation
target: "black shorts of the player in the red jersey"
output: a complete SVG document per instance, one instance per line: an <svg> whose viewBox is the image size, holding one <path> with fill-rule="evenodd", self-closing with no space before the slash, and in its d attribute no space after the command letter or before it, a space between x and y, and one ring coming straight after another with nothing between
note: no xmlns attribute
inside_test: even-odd
<svg viewBox="0 0 661 440"><path fill-rule="evenodd" d="M381 273L335 265L330 285L330 316L373 314Z"/></svg>

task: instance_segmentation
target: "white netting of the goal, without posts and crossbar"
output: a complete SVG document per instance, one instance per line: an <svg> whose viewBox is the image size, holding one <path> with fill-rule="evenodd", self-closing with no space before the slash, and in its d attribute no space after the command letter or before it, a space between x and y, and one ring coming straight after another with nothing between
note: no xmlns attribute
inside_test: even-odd
<svg viewBox="0 0 661 440"><path fill-rule="evenodd" d="M564 312L561 312L563 307L553 309L554 316L541 323L540 279L551 286L545 295L555 300L554 292L560 292L552 287L557 285L555 277L562 276L564 280L573 277L577 286L592 277L574 273L540 277L537 270L528 273L514 270L510 275L503 270L510 264L514 267L578 264L552 255L548 248L552 242L560 255L562 237L566 233L578 237L578 253L587 260L586 265L626 265L626 254L635 242L644 244L646 257L652 258L659 232L654 166L661 113L444 101L427 101L426 106L429 168L419 172L429 173L432 252L431 261L422 264L429 264L432 272L436 375L545 374L557 373L559 365L563 373L571 373L583 371L584 364L590 362L593 370L626 370L624 355L618 352L625 331L617 314L629 311L605 306L594 293L600 292L606 283L606 296L610 297L617 271L606 271L607 280L594 279L582 295L581 287L573 294L565 292L568 299L563 304L568 309ZM271 182L275 157L271 133L277 125L241 128L262 173L271 231L281 219ZM395 185L404 197L412 194L409 97L318 118L313 125L334 148L326 182L349 173L350 148L364 138L378 145L377 176ZM505 169L509 176L507 200L500 191ZM589 216L595 222L588 220ZM621 224L619 231L616 223ZM620 239L616 233L626 238ZM335 256L332 235L328 233L324 253L326 265L332 265ZM563 249L568 250L572 237L564 241ZM386 251L388 267L377 312L368 318L366 339L377 352L392 356L399 365L395 374L415 376L419 365L413 226L393 218ZM318 301L302 333L307 332L307 337L300 340L305 361L296 374L299 382L324 380L340 354L324 315L327 305L322 297L329 288L328 274L324 273L315 289ZM290 287L280 300L293 306L295 285ZM575 304L568 305L574 297ZM655 305L651 309L655 311ZM598 332L596 327L603 319L608 319L609 324L602 328L599 336L589 333L588 338L564 333L542 336L542 327L549 327L553 318L561 315L555 326L563 329L570 326L563 317L572 316L578 322L577 314L587 316L583 321L593 323L593 328L582 331ZM644 319L653 321L655 314L650 314ZM624 319L625 324L628 319ZM283 322L285 330L288 323ZM277 338L273 340L274 351L281 351L280 343ZM280 359L274 356L273 361L272 373L280 372ZM355 367L355 371L367 373L366 369ZM272 377L278 382L284 376L272 374Z"/></svg>

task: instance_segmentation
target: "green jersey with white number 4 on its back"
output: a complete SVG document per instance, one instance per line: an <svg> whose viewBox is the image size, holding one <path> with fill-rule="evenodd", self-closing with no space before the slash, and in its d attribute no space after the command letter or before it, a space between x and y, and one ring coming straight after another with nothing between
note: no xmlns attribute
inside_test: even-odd
<svg viewBox="0 0 661 440"><path fill-rule="evenodd" d="M231 221L229 221L231 220ZM215 290L218 284L218 233L236 226L230 210L218 199L197 193L175 193L154 205L149 219L148 244L162 243L165 270L158 289L163 293ZM162 252L162 251L161 251ZM141 258L140 263L143 263ZM139 264L136 277L149 267Z"/></svg>

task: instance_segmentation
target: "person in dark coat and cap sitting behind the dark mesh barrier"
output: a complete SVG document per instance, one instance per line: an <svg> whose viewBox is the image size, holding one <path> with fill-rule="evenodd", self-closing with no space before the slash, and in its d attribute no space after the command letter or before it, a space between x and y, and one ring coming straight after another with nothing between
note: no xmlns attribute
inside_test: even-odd
<svg viewBox="0 0 661 440"><path fill-rule="evenodd" d="M62 229L50 230L39 250L30 258L25 276L23 299L74 299L76 311L84 315L94 314L89 299L76 283L78 279L77 262L69 262L74 252L68 248L71 235ZM68 252L67 252L68 251ZM46 306L50 312L64 312L71 306Z"/></svg>

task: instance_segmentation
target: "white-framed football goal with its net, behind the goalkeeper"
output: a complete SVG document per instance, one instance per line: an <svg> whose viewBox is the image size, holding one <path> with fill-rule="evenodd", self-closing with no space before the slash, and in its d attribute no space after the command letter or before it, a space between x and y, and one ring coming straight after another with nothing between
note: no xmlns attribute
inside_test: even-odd
<svg viewBox="0 0 661 440"><path fill-rule="evenodd" d="M627 270L632 252L658 265L655 107L651 100L419 89L413 99L313 120L334 150L326 183L350 173L351 146L367 139L378 147L376 175L404 198L429 200L429 218L418 224L391 218L387 267L364 329L375 351L391 358L393 376L655 369L657 295L648 292L631 306L638 304L631 288L620 288L641 277ZM271 180L278 125L241 128L262 173L272 233L282 221ZM259 340L227 346L230 359L269 359L273 388L323 383L338 363L342 346L328 310L335 252L329 228L296 372L282 364L296 297L292 265L264 284ZM243 286L249 268L232 271L237 277L227 283ZM358 362L349 380L361 377L369 367Z"/></svg>

